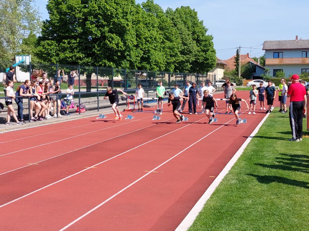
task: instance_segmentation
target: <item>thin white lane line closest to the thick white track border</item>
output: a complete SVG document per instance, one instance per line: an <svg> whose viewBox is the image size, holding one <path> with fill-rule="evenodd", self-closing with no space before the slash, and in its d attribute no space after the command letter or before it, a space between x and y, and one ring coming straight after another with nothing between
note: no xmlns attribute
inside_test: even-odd
<svg viewBox="0 0 309 231"><path fill-rule="evenodd" d="M232 119L234 120L234 118ZM231 122L232 120L229 120L228 122L226 122L225 124ZM116 197L117 195L119 195L120 193L122 193L123 191L125 191L126 189L130 188L132 185L136 184L138 181L142 180L143 178L145 178L146 176L148 176L150 173L154 172L155 170L157 170L158 168L160 168L161 166L163 166L164 164L166 164L167 162L169 162L170 160L174 159L176 156L180 155L181 153L183 153L184 151L186 151L188 148L191 148L194 144L197 144L198 142L200 142L201 140L205 139L207 136L210 136L212 133L216 132L218 129L222 128L225 124L221 125L219 128L215 129L214 131L208 133L206 136L202 137L201 139L197 140L196 142L194 142L193 144L191 144L190 146L188 146L187 148L183 149L182 151L178 152L175 156L172 156L170 159L164 161L162 164L158 165L157 167L155 167L154 169L150 170L150 172L147 172L145 175L143 175L142 177L138 178L137 180L135 180L134 182L132 182L131 184L129 184L128 186L126 186L125 188L121 189L120 191L118 191L117 193L115 193L114 195L112 195L111 197L109 197L107 200L103 201L102 203L100 203L99 205L95 206L93 209L89 210L87 213L84 213L82 216L78 217L77 219L75 219L74 221L72 221L70 224L66 225L65 227L63 227L62 229L60 229L59 231L63 231L66 230L67 228L69 228L71 225L75 224L77 221L83 219L84 217L86 217L88 214L92 213L93 211L95 211L96 209L100 208L102 205L104 205L106 202L112 200L114 197Z"/></svg>

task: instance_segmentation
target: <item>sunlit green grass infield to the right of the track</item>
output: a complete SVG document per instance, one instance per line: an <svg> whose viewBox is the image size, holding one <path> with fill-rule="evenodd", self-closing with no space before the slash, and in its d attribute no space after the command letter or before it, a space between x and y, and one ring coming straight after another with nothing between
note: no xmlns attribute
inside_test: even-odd
<svg viewBox="0 0 309 231"><path fill-rule="evenodd" d="M309 138L291 137L271 113L188 230L309 230Z"/></svg>

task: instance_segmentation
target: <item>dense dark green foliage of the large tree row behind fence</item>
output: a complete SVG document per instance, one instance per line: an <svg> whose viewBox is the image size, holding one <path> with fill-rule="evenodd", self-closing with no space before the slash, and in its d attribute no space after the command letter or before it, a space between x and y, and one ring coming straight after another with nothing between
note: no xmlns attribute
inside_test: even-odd
<svg viewBox="0 0 309 231"><path fill-rule="evenodd" d="M188 6L49 0L47 10L37 48L45 63L191 73L216 64L213 37Z"/></svg>

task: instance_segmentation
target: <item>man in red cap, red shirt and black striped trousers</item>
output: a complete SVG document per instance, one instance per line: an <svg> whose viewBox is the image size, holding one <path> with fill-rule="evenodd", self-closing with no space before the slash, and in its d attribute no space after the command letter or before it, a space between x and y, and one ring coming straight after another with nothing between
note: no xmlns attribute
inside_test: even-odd
<svg viewBox="0 0 309 231"><path fill-rule="evenodd" d="M307 96L306 88L299 83L299 76L292 75L292 84L289 87L287 97L290 98L290 125L292 138L290 141L301 141L303 136L303 113L306 113Z"/></svg>

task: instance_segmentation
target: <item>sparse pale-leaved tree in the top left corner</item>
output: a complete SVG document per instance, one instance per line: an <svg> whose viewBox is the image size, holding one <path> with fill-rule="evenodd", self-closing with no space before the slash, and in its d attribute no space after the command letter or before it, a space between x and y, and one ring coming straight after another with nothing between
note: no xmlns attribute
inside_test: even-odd
<svg viewBox="0 0 309 231"><path fill-rule="evenodd" d="M0 0L1 62L14 63L15 55L22 51L23 40L40 33L40 19L34 0Z"/></svg>

